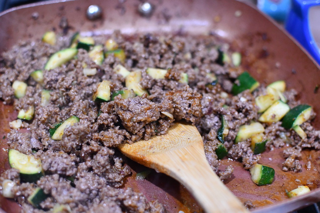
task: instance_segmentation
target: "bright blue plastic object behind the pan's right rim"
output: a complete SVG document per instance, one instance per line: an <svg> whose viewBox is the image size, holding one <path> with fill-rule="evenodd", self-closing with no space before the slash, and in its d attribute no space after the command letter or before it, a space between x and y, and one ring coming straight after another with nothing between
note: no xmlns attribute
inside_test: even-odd
<svg viewBox="0 0 320 213"><path fill-rule="evenodd" d="M320 6L320 0L292 0L292 9L288 14L285 28L320 65L320 50L309 25L309 9Z"/></svg>

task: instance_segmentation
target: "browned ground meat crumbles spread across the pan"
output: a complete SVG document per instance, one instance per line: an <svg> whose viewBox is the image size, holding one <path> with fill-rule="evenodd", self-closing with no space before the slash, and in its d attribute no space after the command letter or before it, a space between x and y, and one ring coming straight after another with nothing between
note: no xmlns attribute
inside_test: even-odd
<svg viewBox="0 0 320 213"><path fill-rule="evenodd" d="M215 35L124 35L116 31L92 37L95 44L88 50L73 49L73 57L48 68L52 54L70 48L73 34L67 33L68 24L61 23L65 30L56 35L62 39L54 45L24 41L0 56L0 98L20 113L20 120L10 123L9 149L34 157L42 166L34 181L25 181L15 168L0 176L1 193L19 202L23 212L57 208L66 212L166 212L164 204L123 187L131 169L116 147L165 134L180 120L197 127L205 156L222 181L232 177L234 168L219 169L220 158L240 161L244 170L259 163L261 154L252 148L253 137L237 140L241 126L259 122L256 99L268 89L261 84L253 91L233 94L234 84L240 83L236 78L244 71L231 60L221 61L222 53L235 51L232 47ZM106 41L115 49L104 45ZM71 48L76 45L71 42ZM93 54L97 46L102 52ZM155 68L156 73L148 68ZM34 71L40 71L40 77L34 77ZM132 73L136 77L129 81ZM26 86L19 98L12 87L17 81ZM101 82L108 82L102 95ZM97 94L101 96L95 100ZM291 108L300 104L294 90L283 95ZM303 133L284 128L281 120L260 122L266 148L288 147L283 152L283 171L311 168L309 162L303 168L300 160L303 148L320 148L320 131L310 124L314 117L311 111L300 124L303 138ZM217 152L221 146L226 149L222 157ZM9 191L5 183L11 184ZM28 201L36 190L45 196L38 206ZM245 205L254 208L251 202Z"/></svg>

